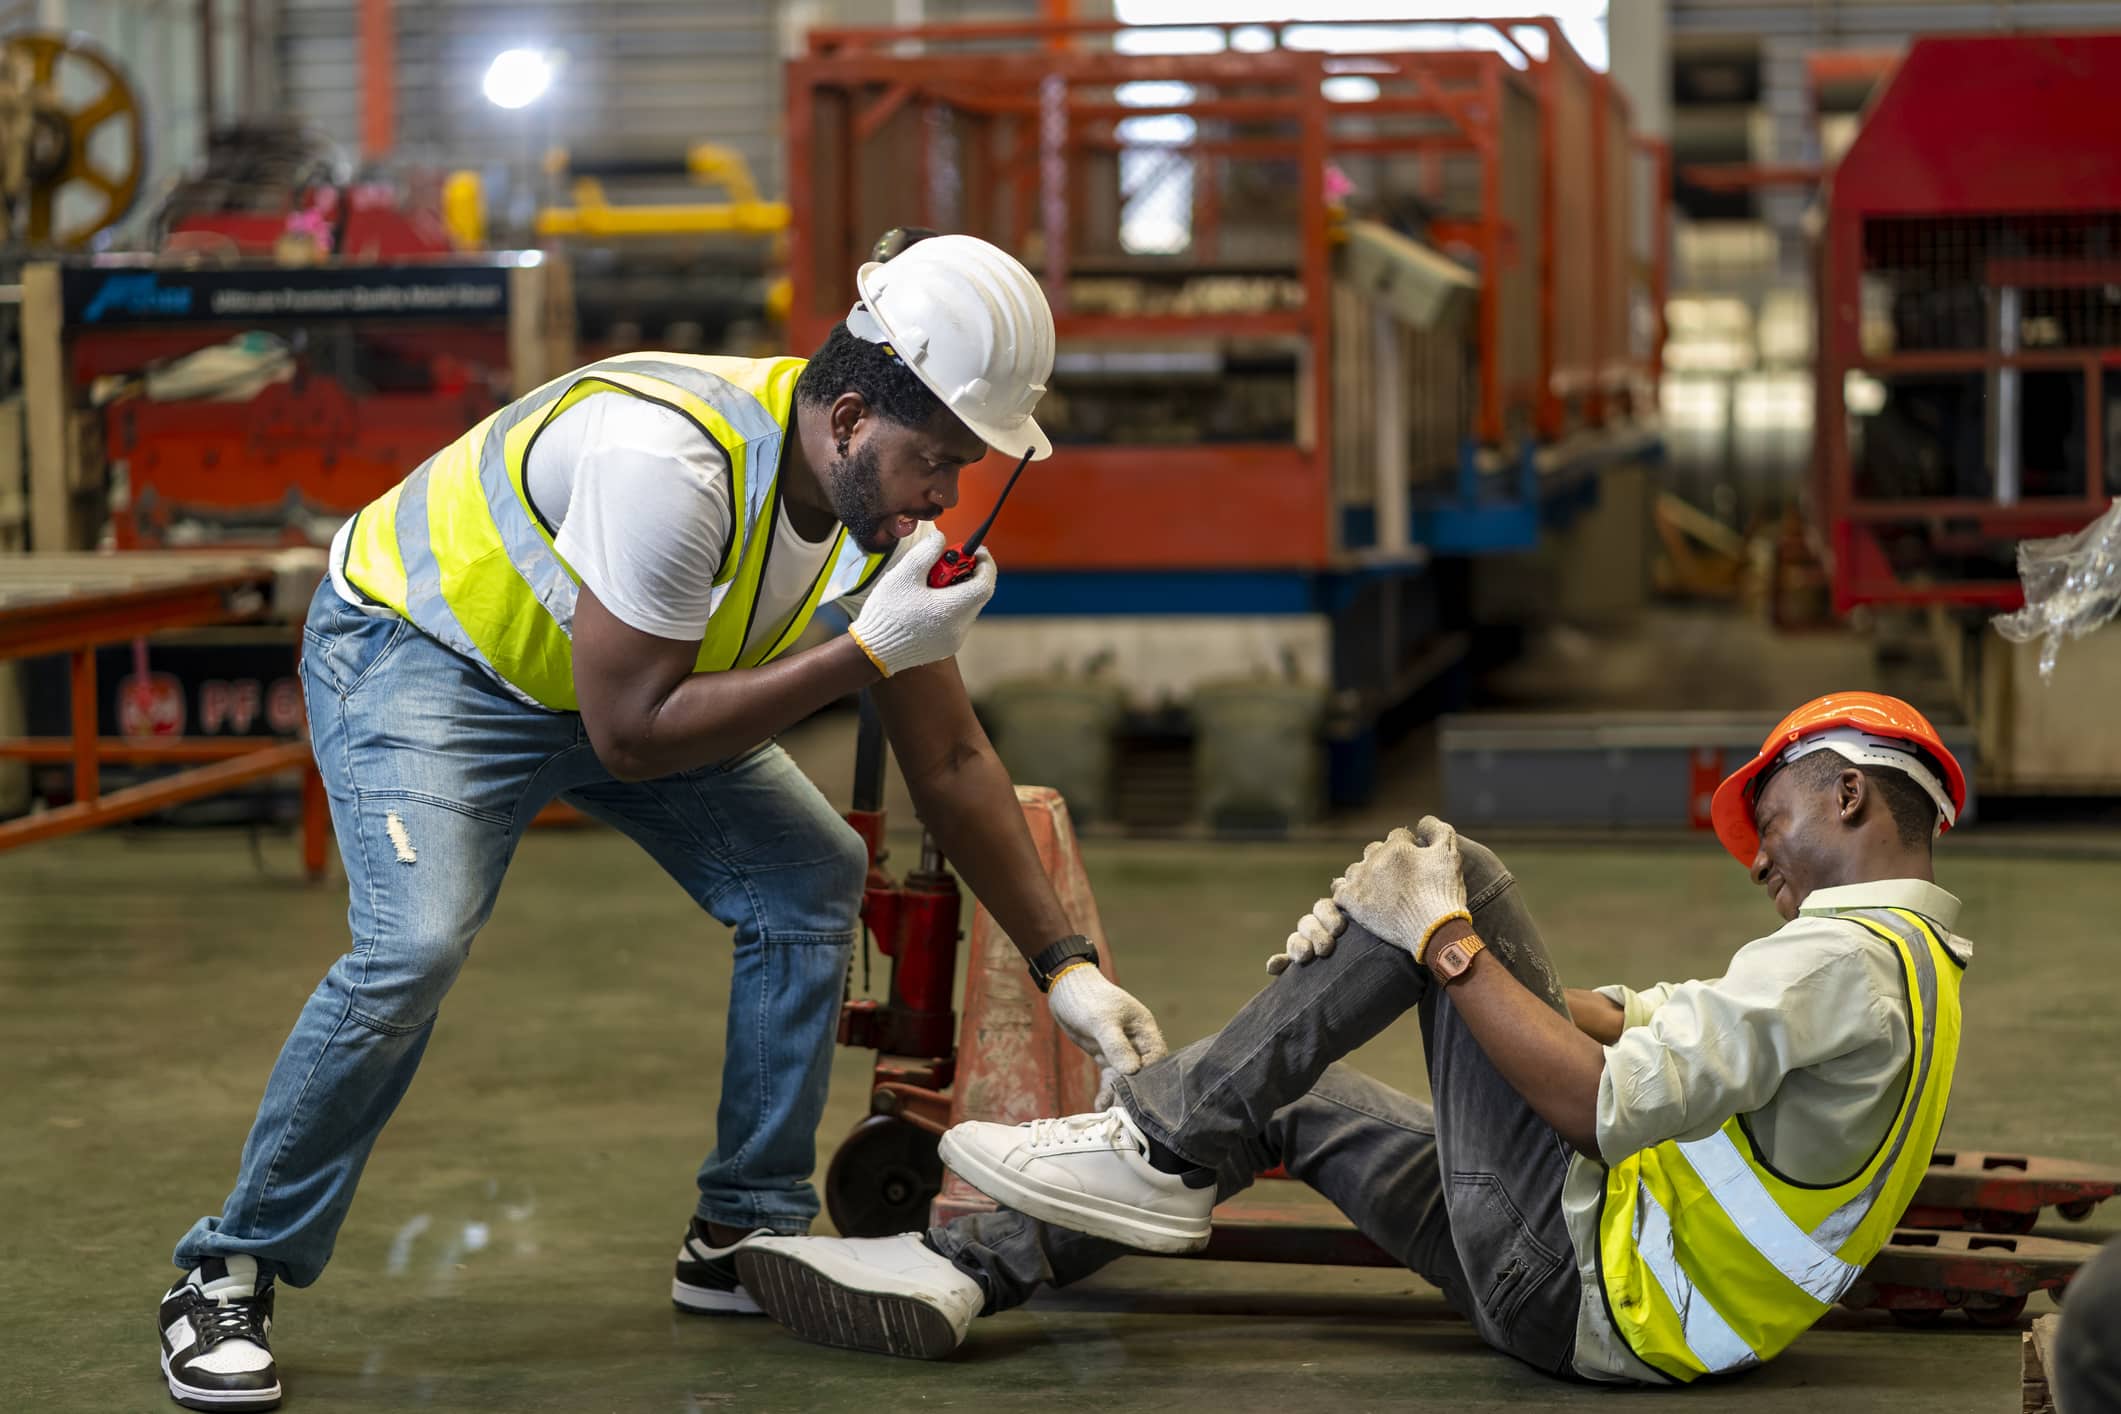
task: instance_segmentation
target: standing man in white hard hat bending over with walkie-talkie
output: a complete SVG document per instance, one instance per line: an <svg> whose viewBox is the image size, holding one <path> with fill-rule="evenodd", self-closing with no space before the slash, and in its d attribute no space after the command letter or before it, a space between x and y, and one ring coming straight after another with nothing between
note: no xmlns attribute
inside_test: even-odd
<svg viewBox="0 0 2121 1414"><path fill-rule="evenodd" d="M867 856L772 736L874 685L923 823L1114 1073L1164 1054L1039 865L952 655L995 562L931 589L959 471L1046 458L1054 324L1031 273L965 235L857 276L814 358L630 354L503 407L331 545L303 693L346 861L352 950L318 984L218 1217L176 1244L170 1395L280 1401L274 1287L331 1257L375 1136L532 816L628 833L736 929L715 1149L672 1300L757 1312L732 1253L817 1217L814 1132ZM831 604L844 636L795 651ZM1094 954L1092 954L1094 956ZM1067 975L1058 973L1067 969Z"/></svg>

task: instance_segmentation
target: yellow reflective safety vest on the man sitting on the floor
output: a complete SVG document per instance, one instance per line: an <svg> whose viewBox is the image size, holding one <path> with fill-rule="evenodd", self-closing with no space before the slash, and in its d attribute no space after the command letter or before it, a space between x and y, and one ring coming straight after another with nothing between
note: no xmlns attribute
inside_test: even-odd
<svg viewBox="0 0 2121 1414"><path fill-rule="evenodd" d="M1945 1124L1962 962L1907 909L1837 916L1900 954L1913 1037L1898 1115L1862 1168L1828 1185L1784 1179L1737 1115L1606 1172L1606 1308L1629 1348L1673 1380L1773 1359L1841 1300L1913 1202Z"/></svg>

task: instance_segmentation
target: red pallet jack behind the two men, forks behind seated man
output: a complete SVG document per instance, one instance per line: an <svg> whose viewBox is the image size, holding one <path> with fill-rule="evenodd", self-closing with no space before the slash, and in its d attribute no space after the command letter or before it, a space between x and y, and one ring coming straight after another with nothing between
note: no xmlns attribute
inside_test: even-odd
<svg viewBox="0 0 2121 1414"><path fill-rule="evenodd" d="M965 1011L950 1011L957 971L959 888L923 833L918 867L901 882L884 869L884 740L863 700L848 823L870 844L863 924L891 960L884 1003L848 1001L840 1043L876 1049L870 1115L840 1145L825 1177L825 1204L844 1236L889 1236L944 1223L995 1204L946 1174L935 1145L961 1119L1020 1124L1090 1109L1097 1066L1058 1032L1007 935L974 909ZM1097 943L1111 975L1067 806L1056 791L1018 786L1024 820L1069 922ZM952 1032L957 1037L952 1045ZM1270 1174L1273 1177L1273 1174ZM1279 1189L1279 1194L1277 1194ZM1915 1204L1862 1280L1843 1297L1854 1310L1888 1310L1903 1325L1936 1325L1964 1310L1975 1325L2015 1325L2028 1297L2062 1300L2098 1247L2028 1236L2047 1208L2085 1219L2121 1191L2121 1170L2004 1153L1939 1151ZM1396 1268L1385 1251L1338 1215L1262 1183L1215 1208L1215 1230L1194 1257Z"/></svg>

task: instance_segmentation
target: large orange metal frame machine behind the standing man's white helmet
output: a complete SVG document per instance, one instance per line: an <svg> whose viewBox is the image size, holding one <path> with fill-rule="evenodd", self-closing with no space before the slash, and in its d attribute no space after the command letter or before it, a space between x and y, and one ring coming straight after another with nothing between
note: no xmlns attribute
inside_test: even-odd
<svg viewBox="0 0 2121 1414"><path fill-rule="evenodd" d="M1067 477L1018 488L997 551L1018 572L1016 589L1027 587L1022 570L1347 568L1364 545L1360 517L1347 517L1334 494L1328 163L1360 167L1374 195L1404 191L1440 208L1430 240L1483 271L1459 464L1434 469L1432 509L1478 496L1476 452L1514 456L1603 426L1644 407L1659 371L1661 331L1637 337L1629 301L1640 290L1661 312L1663 242L1652 259L1635 259L1629 191L1637 161L1659 174L1663 163L1629 134L1618 89L1548 19L1406 23L1476 25L1510 53L1285 47L1294 30L1336 28L1309 21L1171 25L1224 32L1222 53L1194 55L1116 53L1105 45L1120 30L1152 30L1116 21L814 30L787 72L795 346L817 346L846 314L855 267L893 225L967 231L1022 257L1046 284L1063 354L1086 343L1294 346L1294 437L1067 445ZM1527 32L1544 45L1527 47ZM1241 40L1264 47L1239 49ZM1326 81L1343 74L1372 78L1377 95L1330 98ZM1137 104L1116 93L1128 83L1181 87L1177 98ZM1158 114L1192 119L1194 138L1160 146L1120 136L1126 119ZM1116 159L1147 151L1194 163L1192 242L1181 257L1120 252ZM1230 210L1232 178L1245 167L1275 172L1292 199L1268 218ZM1156 280L1266 267L1285 271L1300 295L1243 312L1114 312L1082 299L1082 282L1103 273ZM1056 384L1067 394L1065 375ZM1417 477L1423 471L1432 469ZM993 500L1003 473L967 475L965 513ZM1094 534L1082 507L1107 509ZM1436 547L1436 538L1415 543ZM1517 545L1463 549L1504 547Z"/></svg>

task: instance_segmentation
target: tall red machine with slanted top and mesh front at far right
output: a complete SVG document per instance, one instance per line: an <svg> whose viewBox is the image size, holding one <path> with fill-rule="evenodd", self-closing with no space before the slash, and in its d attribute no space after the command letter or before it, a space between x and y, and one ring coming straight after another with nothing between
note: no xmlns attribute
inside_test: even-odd
<svg viewBox="0 0 2121 1414"><path fill-rule="evenodd" d="M1826 187L1816 507L1837 611L2015 608L2121 485L2121 36L1917 40Z"/></svg>

